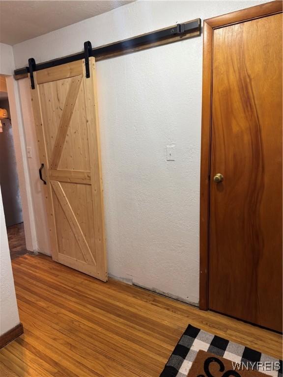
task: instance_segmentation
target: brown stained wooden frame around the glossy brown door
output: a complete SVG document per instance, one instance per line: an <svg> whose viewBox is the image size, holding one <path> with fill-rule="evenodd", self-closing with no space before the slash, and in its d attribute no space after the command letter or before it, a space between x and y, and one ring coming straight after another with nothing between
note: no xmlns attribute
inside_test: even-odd
<svg viewBox="0 0 283 377"><path fill-rule="evenodd" d="M200 156L199 214L199 308L208 310L209 268L209 182L211 150L212 56L213 30L257 18L282 13L282 1L271 1L236 12L213 17L203 22L202 113Z"/></svg>

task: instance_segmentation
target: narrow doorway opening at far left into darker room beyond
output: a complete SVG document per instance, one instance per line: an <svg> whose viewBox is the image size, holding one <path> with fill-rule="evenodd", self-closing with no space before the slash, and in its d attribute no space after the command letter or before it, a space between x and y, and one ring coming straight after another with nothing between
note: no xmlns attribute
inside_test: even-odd
<svg viewBox="0 0 283 377"><path fill-rule="evenodd" d="M0 187L11 259L28 253L5 76L0 75Z"/></svg>

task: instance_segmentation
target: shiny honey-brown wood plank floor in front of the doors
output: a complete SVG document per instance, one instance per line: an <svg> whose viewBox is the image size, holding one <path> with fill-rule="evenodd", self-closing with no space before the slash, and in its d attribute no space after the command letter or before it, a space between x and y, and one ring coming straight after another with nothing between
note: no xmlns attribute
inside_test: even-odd
<svg viewBox="0 0 283 377"><path fill-rule="evenodd" d="M12 267L25 333L0 350L1 376L158 377L188 323L282 357L279 334L43 255Z"/></svg>

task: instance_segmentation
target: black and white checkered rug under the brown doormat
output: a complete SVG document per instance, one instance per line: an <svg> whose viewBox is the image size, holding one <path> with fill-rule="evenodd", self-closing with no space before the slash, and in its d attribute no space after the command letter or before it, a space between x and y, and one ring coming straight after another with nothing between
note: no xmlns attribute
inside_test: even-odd
<svg viewBox="0 0 283 377"><path fill-rule="evenodd" d="M272 377L282 377L282 360L209 334L190 324L173 350L160 377L187 377L198 350L214 353L233 362L243 362L247 365L250 363L258 372ZM266 365L272 367L267 368ZM274 365L276 369L273 368Z"/></svg>

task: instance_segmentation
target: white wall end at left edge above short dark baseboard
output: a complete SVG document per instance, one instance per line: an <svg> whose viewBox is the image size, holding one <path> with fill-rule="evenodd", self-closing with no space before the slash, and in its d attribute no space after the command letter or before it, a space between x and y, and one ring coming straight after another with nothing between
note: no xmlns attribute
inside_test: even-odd
<svg viewBox="0 0 283 377"><path fill-rule="evenodd" d="M20 323L0 190L0 335Z"/></svg>

